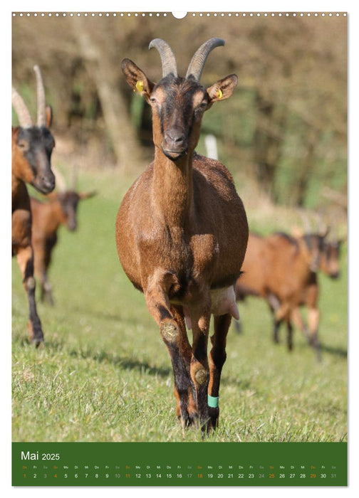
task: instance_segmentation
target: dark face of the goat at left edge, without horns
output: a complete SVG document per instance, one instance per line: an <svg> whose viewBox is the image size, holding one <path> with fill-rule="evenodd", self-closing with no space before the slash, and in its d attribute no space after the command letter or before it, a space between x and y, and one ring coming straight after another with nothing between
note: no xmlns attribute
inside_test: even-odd
<svg viewBox="0 0 359 498"><path fill-rule="evenodd" d="M33 185L42 194L55 187L55 176L51 171L51 153L55 141L47 127L19 128L15 134L18 161L16 176Z"/></svg>

